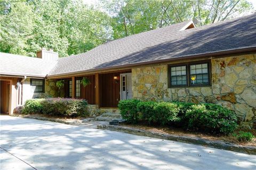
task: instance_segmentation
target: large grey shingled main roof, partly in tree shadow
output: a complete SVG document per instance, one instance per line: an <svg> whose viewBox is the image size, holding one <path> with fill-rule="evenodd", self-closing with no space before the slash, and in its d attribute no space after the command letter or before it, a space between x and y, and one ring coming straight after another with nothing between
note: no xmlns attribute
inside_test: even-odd
<svg viewBox="0 0 256 170"><path fill-rule="evenodd" d="M49 75L100 70L256 47L256 14L181 30L189 22L110 41L63 57ZM181 30L181 31L180 31Z"/></svg>

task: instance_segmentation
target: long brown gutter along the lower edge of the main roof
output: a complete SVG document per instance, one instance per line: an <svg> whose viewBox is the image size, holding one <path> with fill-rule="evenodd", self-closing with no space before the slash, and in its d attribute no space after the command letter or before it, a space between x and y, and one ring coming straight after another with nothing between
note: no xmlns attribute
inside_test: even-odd
<svg viewBox="0 0 256 170"><path fill-rule="evenodd" d="M243 52L251 52L256 51L256 46L254 47L247 47L247 48L236 48L226 51L219 51L219 52L213 52L213 53L207 53L207 54L196 54L196 55L190 55L190 56L182 56L182 57L176 57L176 58L167 58L162 60L156 60L156 61L148 61L148 62L140 62L140 63L133 63L133 64L125 64L125 65L117 65L117 66L111 66L111 67L105 67L101 69L90 69L85 71L76 71L76 72L69 72L69 73L61 73L61 74L52 74L52 75L46 75L46 78L57 78L57 77L70 77L74 74L86 74L88 72L103 72L105 70L110 69L120 69L124 70L127 67L134 67L134 66L141 66L141 65L148 65L148 64L158 64L158 63L166 63L166 62L172 62L172 61L178 61L178 60L187 60L192 58L199 58L199 57L212 57L212 56L218 56L218 55L225 55L225 54L234 54L234 53L243 53Z"/></svg>

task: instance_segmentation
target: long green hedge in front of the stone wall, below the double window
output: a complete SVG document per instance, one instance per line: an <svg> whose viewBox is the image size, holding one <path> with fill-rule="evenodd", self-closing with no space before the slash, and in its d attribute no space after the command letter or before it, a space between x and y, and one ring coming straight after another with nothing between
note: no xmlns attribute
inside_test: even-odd
<svg viewBox="0 0 256 170"><path fill-rule="evenodd" d="M121 100L118 104L122 117L132 124L181 126L186 130L229 134L237 128L233 111L215 104L182 102L155 102L135 99Z"/></svg>

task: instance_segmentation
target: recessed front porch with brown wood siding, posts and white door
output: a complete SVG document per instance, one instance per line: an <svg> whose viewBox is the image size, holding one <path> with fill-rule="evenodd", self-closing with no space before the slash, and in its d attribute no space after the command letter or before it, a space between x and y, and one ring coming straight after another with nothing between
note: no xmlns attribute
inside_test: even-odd
<svg viewBox="0 0 256 170"><path fill-rule="evenodd" d="M83 86L83 78L90 83ZM65 80L61 97L85 99L88 104L98 105L99 108L117 108L119 100L132 98L131 70L85 74L55 80Z"/></svg>

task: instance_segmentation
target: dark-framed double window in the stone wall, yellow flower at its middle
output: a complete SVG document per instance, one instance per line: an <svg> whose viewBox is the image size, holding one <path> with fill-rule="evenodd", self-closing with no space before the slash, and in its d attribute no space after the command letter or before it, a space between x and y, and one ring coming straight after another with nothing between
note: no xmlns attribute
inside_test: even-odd
<svg viewBox="0 0 256 170"><path fill-rule="evenodd" d="M191 63L169 66L169 87L210 85L210 63Z"/></svg>

